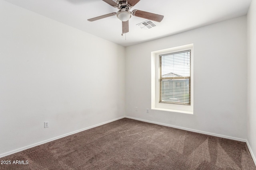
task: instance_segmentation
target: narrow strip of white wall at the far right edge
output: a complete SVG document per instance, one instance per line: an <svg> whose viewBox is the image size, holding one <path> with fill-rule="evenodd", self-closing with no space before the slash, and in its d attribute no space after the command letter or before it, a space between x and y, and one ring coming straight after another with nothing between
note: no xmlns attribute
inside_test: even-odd
<svg viewBox="0 0 256 170"><path fill-rule="evenodd" d="M256 164L256 1L248 11L248 143Z"/></svg>

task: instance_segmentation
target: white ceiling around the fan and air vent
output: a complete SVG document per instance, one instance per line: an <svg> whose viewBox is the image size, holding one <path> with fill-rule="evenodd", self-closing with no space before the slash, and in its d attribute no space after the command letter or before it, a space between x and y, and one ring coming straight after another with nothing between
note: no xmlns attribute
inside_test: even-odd
<svg viewBox="0 0 256 170"><path fill-rule="evenodd" d="M164 16L157 27L141 29L144 18L132 16L130 31L122 34L122 22L116 16L87 21L118 9L102 0L5 0L53 20L70 25L114 43L129 46L173 35L211 23L247 14L251 0L140 0L132 9Z"/></svg>

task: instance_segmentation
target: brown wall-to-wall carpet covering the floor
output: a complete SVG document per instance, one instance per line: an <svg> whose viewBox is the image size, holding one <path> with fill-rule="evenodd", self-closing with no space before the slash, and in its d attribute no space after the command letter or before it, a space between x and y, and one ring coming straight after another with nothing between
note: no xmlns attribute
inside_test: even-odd
<svg viewBox="0 0 256 170"><path fill-rule="evenodd" d="M0 160L0 170L256 170L246 143L120 119Z"/></svg>

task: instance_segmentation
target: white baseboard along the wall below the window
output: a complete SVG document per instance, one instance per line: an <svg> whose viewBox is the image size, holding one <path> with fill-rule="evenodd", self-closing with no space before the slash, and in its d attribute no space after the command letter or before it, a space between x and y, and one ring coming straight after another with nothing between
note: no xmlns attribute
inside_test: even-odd
<svg viewBox="0 0 256 170"><path fill-rule="evenodd" d="M163 126L167 126L167 127L173 127L173 128L176 128L176 129L182 129L182 130L186 130L186 131L202 133L202 134L205 134L205 135L211 135L211 136L222 137L222 138L226 138L226 139L232 139L232 140L235 140L235 141L241 141L241 142L246 142L247 141L246 139L240 139L240 138L236 138L236 137L219 135L219 134L216 134L216 133L209 133L209 132L204 132L204 131L198 131L198 130L189 129L189 128L186 128L186 127L180 127L180 126L174 126L174 125L169 125L169 124L164 124L164 123L158 123L158 122L155 122L155 121L148 121L148 120L144 120L144 119L137 119L137 118L129 117L129 116L125 116L125 117L128 118L128 119L134 119L134 120L138 120L138 121L154 123L154 124L157 124L157 125L163 125Z"/></svg>

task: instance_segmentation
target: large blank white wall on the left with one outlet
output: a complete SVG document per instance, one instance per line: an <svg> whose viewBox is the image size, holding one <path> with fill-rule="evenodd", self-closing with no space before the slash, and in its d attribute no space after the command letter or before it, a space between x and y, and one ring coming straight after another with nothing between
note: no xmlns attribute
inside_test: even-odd
<svg viewBox="0 0 256 170"><path fill-rule="evenodd" d="M125 115L124 47L3 0L0 25L0 157Z"/></svg>

